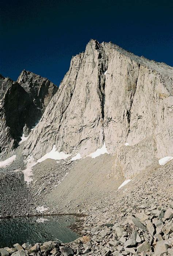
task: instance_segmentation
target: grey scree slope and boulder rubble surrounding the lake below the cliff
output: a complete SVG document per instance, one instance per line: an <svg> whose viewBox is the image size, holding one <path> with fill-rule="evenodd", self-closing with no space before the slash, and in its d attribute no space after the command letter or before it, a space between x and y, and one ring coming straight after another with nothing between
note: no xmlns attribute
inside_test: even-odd
<svg viewBox="0 0 173 256"><path fill-rule="evenodd" d="M1 216L40 214L40 206L49 207L43 214L86 217L81 237L70 244L15 245L0 249L2 256L173 255L173 160L155 162L120 189L123 180L109 175L113 158L107 154L74 162L47 159L32 167L30 184L14 172L16 161L1 170Z"/></svg>

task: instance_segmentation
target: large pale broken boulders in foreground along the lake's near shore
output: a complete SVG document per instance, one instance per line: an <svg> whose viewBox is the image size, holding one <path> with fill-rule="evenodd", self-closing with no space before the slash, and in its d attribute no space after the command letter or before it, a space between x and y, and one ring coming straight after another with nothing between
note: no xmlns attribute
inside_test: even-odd
<svg viewBox="0 0 173 256"><path fill-rule="evenodd" d="M128 215L123 222L85 226L80 232L82 237L68 244L60 241L15 244L14 248L1 248L0 253L1 256L172 255L173 203L165 207L142 204L139 212Z"/></svg>

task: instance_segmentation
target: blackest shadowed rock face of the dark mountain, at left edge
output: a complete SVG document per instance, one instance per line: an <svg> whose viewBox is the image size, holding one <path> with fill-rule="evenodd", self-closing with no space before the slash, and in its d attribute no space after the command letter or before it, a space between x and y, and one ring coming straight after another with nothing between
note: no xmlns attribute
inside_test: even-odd
<svg viewBox="0 0 173 256"><path fill-rule="evenodd" d="M0 158L18 146L31 106L27 92L9 78L0 79Z"/></svg>

